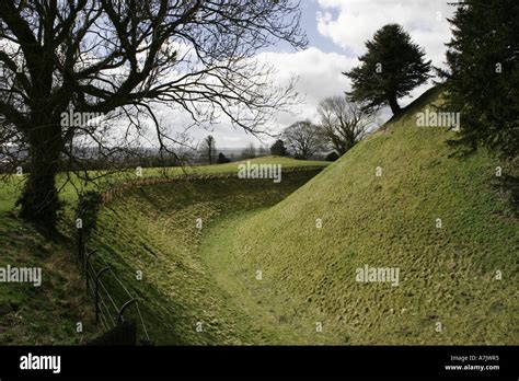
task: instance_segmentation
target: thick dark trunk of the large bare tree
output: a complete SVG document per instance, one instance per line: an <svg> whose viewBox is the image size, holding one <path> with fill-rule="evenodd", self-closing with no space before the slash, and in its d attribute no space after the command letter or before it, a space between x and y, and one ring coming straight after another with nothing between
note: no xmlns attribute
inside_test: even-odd
<svg viewBox="0 0 519 381"><path fill-rule="evenodd" d="M56 174L62 139L59 125L37 126L28 134L31 166L18 201L20 216L53 231L59 209Z"/></svg>

